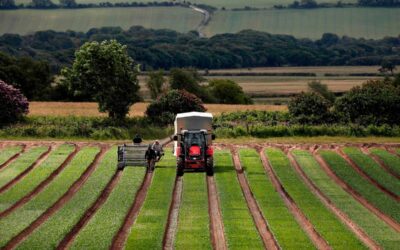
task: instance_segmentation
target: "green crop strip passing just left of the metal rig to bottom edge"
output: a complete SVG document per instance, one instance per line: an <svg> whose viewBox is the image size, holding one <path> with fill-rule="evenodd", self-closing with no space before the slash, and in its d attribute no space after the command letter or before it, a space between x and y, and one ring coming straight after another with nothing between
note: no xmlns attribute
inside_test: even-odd
<svg viewBox="0 0 400 250"><path fill-rule="evenodd" d="M115 151L116 148L108 150L90 178L72 199L29 235L18 249L49 249L61 242L113 177L115 173L113 166L117 163Z"/></svg>

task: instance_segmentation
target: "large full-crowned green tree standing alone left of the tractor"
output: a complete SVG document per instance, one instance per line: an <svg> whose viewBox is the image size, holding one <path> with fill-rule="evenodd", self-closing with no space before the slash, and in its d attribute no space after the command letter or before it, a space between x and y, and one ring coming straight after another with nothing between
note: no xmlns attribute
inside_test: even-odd
<svg viewBox="0 0 400 250"><path fill-rule="evenodd" d="M72 68L62 71L75 95L91 97L114 119L123 119L140 100L138 65L126 49L115 40L87 42L75 53Z"/></svg>

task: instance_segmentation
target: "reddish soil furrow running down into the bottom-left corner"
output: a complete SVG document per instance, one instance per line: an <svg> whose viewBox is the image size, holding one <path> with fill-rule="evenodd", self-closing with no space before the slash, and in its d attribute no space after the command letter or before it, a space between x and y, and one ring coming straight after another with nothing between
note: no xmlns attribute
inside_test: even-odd
<svg viewBox="0 0 400 250"><path fill-rule="evenodd" d="M7 245L3 248L6 249L14 249L18 244L20 244L29 234L36 230L40 225L42 225L50 216L52 216L55 212L57 212L61 207L64 206L73 196L74 194L82 187L82 185L89 179L90 175L96 169L101 159L103 158L105 152L107 151L107 147L101 147L99 153L97 153L93 162L89 165L89 167L85 170L85 172L79 177L78 180L72 184L72 186L68 189L68 191L60 198L56 203L54 203L50 208L48 208L42 215L40 215L34 222L32 222L28 227L22 230L19 234L14 236Z"/></svg>

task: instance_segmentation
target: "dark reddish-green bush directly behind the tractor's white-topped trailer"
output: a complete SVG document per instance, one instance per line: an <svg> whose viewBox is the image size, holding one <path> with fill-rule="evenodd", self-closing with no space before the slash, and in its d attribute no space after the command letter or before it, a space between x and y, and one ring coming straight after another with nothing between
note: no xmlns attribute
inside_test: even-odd
<svg viewBox="0 0 400 250"><path fill-rule="evenodd" d="M195 95L185 90L171 90L152 102L146 115L153 123L167 125L174 121L176 114L190 111L204 112L206 108Z"/></svg>

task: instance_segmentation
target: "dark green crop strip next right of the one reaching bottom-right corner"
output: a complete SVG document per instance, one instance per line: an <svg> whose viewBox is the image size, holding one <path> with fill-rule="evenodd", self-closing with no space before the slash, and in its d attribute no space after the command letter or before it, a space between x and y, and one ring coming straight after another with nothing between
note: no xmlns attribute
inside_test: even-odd
<svg viewBox="0 0 400 250"><path fill-rule="evenodd" d="M398 202L379 191L369 181L357 174L357 172L337 153L322 150L320 154L335 175L343 180L348 187L351 187L357 194L364 197L368 203L371 203L374 207L390 216L395 221L393 224L386 218L385 221L387 223L390 223L394 228L400 229L400 225L398 225L400 221L400 204ZM373 210L373 208L370 209ZM375 213L379 214L377 211L375 211ZM384 216L380 217L384 219Z"/></svg>

